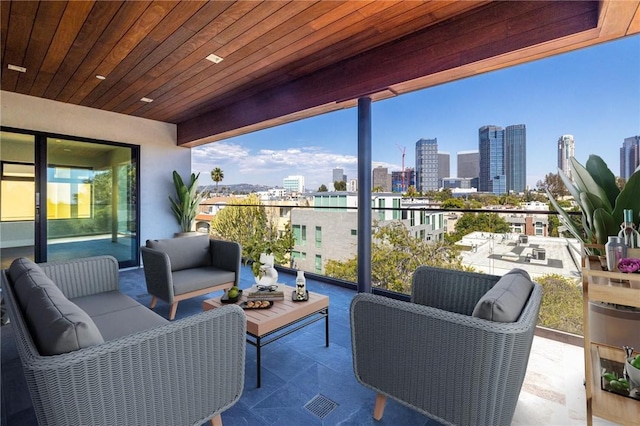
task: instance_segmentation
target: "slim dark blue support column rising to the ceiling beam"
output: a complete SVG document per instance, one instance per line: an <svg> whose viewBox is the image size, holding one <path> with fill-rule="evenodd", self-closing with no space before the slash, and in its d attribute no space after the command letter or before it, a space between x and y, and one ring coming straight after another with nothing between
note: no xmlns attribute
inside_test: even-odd
<svg viewBox="0 0 640 426"><path fill-rule="evenodd" d="M371 98L358 99L358 292L371 293Z"/></svg>

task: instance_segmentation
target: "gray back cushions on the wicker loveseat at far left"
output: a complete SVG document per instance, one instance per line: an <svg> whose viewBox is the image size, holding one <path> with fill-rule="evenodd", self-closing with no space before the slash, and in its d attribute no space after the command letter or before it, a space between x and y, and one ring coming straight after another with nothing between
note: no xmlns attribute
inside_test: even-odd
<svg viewBox="0 0 640 426"><path fill-rule="evenodd" d="M41 355L58 355L104 343L89 315L64 297L38 265L28 259L14 264L9 268L9 277L16 277L13 288Z"/></svg>

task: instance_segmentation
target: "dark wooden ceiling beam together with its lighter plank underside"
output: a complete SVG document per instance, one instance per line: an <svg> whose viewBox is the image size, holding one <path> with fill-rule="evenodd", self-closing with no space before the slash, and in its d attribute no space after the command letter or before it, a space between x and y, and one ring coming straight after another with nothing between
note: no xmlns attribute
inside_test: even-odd
<svg viewBox="0 0 640 426"><path fill-rule="evenodd" d="M221 105L178 126L196 146L639 32L639 2L491 2Z"/></svg>

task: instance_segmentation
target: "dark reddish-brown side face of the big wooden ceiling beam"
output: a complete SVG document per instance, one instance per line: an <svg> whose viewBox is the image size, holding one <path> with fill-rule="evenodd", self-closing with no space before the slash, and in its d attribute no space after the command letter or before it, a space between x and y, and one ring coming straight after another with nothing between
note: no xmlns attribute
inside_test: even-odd
<svg viewBox="0 0 640 426"><path fill-rule="evenodd" d="M178 144L197 146L342 108L340 102L394 85L592 30L599 17L595 1L490 3L181 122Z"/></svg>

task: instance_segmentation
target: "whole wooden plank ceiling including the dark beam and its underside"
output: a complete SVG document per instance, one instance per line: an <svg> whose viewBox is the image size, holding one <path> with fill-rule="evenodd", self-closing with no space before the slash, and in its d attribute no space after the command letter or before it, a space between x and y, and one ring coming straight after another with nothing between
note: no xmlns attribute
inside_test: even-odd
<svg viewBox="0 0 640 426"><path fill-rule="evenodd" d="M195 146L633 34L639 3L2 1L1 89Z"/></svg>

